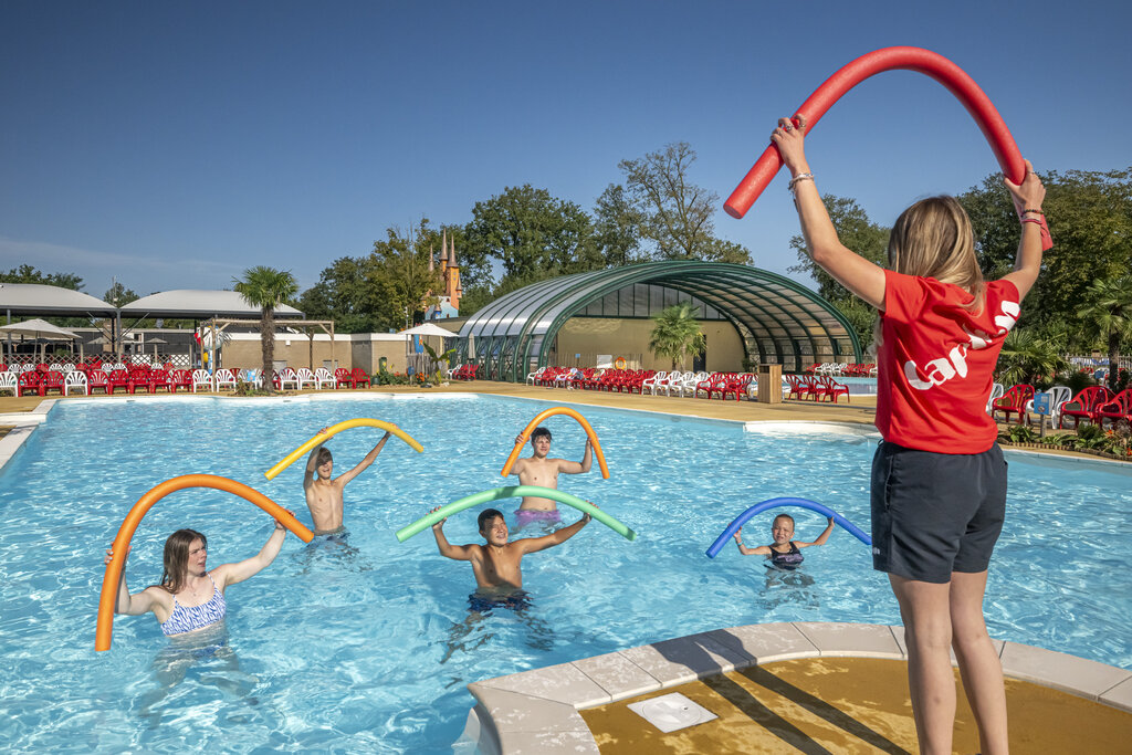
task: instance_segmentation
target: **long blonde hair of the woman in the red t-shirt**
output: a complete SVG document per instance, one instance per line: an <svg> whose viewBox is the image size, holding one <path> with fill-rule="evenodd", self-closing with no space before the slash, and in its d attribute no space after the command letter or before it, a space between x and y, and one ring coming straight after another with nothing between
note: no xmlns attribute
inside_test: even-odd
<svg viewBox="0 0 1132 755"><path fill-rule="evenodd" d="M920 199L897 218L889 235L889 268L952 283L983 307L983 271L975 256L971 218L954 197Z"/></svg>

